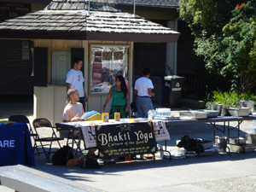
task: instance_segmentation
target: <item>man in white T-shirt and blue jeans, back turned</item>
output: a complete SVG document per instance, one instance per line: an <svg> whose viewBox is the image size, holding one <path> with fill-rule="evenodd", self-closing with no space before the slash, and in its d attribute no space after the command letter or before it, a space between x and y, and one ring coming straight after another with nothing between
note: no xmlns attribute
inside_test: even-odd
<svg viewBox="0 0 256 192"><path fill-rule="evenodd" d="M137 117L148 118L148 111L153 108L151 96L154 93L151 91L154 89L150 76L149 68L143 69L143 77L137 79L134 87L134 94L137 95Z"/></svg>

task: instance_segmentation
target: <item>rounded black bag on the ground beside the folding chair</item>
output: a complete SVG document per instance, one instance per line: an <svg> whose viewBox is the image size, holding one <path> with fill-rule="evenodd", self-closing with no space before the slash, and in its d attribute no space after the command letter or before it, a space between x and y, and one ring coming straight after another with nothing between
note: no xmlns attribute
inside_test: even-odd
<svg viewBox="0 0 256 192"><path fill-rule="evenodd" d="M66 166L67 161L73 159L72 148L64 145L52 156L52 164L55 166Z"/></svg>

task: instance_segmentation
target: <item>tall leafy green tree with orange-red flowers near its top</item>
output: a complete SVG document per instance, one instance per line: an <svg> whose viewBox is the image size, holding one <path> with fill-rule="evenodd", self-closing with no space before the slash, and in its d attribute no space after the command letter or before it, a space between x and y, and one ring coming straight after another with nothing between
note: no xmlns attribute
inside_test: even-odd
<svg viewBox="0 0 256 192"><path fill-rule="evenodd" d="M256 86L256 1L181 0L179 13L195 35L195 55L231 90ZM238 3L238 4L237 4Z"/></svg>

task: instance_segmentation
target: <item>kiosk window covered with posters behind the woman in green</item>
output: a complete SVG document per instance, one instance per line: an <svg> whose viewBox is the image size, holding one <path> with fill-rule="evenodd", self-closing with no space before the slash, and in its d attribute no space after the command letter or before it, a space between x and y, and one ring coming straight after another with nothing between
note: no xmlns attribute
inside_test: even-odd
<svg viewBox="0 0 256 192"><path fill-rule="evenodd" d="M108 93L118 75L123 75L128 82L128 50L125 46L91 46L91 93Z"/></svg>

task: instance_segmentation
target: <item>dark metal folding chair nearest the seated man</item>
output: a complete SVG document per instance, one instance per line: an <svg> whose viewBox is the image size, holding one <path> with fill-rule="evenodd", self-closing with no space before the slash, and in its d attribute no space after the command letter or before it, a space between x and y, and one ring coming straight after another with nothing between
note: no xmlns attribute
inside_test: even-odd
<svg viewBox="0 0 256 192"><path fill-rule="evenodd" d="M40 144L38 144L38 147L42 147L42 149L43 149L43 152L38 152L38 154L44 153L49 162L49 155L55 153L55 152L51 151L52 143L57 142L59 144L59 147L61 148L60 141L64 140L64 138L56 136L55 130L54 130L55 127L53 127L50 124L48 119L45 119L45 118L34 119L33 126L34 126L36 133L38 134L38 137L36 138L35 142L40 143ZM51 132L47 131L47 133L48 133L48 135L51 135L51 137L41 137L39 134L41 132L38 130L39 129L42 130L42 128L49 128L51 130ZM44 148L46 146L49 146L48 151L46 151Z"/></svg>

